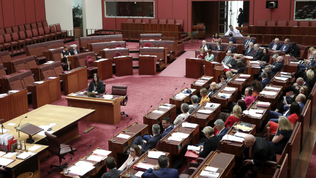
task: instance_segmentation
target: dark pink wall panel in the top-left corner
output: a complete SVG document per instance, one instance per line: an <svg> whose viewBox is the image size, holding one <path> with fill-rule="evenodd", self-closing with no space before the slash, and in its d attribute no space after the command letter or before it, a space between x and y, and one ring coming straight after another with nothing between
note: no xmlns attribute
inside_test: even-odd
<svg viewBox="0 0 316 178"><path fill-rule="evenodd" d="M4 27L15 26L13 1L2 1Z"/></svg>

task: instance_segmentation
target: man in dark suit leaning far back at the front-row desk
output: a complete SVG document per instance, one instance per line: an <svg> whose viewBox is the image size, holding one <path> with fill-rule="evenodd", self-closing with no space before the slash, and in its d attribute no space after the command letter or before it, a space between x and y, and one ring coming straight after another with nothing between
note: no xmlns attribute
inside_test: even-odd
<svg viewBox="0 0 316 178"><path fill-rule="evenodd" d="M133 142L131 142L130 145L136 144L141 149L142 153L147 151L147 149L152 149L156 146L157 142L162 138L160 133L160 126L158 124L153 124L152 128L152 137L147 142L143 139L141 136L137 136Z"/></svg>

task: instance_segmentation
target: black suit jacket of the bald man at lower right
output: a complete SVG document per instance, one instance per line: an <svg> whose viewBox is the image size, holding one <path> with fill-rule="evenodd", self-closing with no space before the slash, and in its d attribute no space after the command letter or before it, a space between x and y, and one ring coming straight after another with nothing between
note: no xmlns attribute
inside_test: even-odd
<svg viewBox="0 0 316 178"><path fill-rule="evenodd" d="M275 161L276 160L276 156L275 156L275 152L272 148L272 146L270 145L270 143L261 137L255 137L256 141L254 142L253 146L252 146L252 151L251 151L251 156L253 159L254 164L257 167L261 167L261 163L264 161ZM246 148L244 155L245 155L245 159L248 160L249 158L249 149L250 148Z"/></svg>

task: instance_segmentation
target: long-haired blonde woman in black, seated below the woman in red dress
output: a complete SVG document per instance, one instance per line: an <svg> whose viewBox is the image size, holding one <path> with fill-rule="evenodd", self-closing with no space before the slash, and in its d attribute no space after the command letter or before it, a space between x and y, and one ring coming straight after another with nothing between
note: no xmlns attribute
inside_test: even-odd
<svg viewBox="0 0 316 178"><path fill-rule="evenodd" d="M271 127L272 126L270 126L270 128ZM293 127L291 126L291 123L289 122L289 120L284 116L279 117L279 124L273 126L273 128L275 127L277 128L276 135L273 137L272 141L270 141L269 143L273 147L275 154L280 155L282 154L283 149L285 148L285 145L288 139L292 135ZM267 136L267 138L269 137Z"/></svg>

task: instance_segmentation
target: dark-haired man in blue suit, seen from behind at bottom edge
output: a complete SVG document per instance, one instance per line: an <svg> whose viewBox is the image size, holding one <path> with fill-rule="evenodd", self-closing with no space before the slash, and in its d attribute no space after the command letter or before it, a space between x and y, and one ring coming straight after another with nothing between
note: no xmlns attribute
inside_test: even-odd
<svg viewBox="0 0 316 178"><path fill-rule="evenodd" d="M165 155L161 155L158 158L158 164L154 165L153 168L147 169L143 174L142 178L178 178L179 173L177 169L169 168L169 159Z"/></svg>

